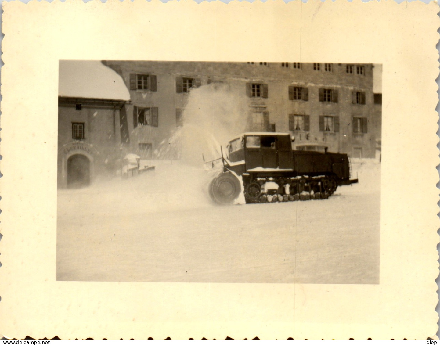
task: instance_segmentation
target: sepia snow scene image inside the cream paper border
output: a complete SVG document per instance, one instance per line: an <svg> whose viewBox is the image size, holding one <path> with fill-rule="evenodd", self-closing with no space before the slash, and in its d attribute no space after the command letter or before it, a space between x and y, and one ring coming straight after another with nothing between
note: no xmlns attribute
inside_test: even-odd
<svg viewBox="0 0 440 345"><path fill-rule="evenodd" d="M56 279L379 284L381 79L60 60Z"/></svg>

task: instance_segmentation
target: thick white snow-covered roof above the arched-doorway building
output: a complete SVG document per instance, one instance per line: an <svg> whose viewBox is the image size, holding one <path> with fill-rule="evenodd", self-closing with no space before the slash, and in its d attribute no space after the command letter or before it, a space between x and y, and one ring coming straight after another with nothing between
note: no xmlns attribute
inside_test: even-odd
<svg viewBox="0 0 440 345"><path fill-rule="evenodd" d="M101 61L60 60L58 95L129 101L122 77Z"/></svg>

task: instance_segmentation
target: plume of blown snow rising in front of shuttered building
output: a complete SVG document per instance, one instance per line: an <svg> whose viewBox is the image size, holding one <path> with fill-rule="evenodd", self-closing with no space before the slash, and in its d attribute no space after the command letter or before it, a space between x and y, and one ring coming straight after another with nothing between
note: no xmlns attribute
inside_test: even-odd
<svg viewBox="0 0 440 345"><path fill-rule="evenodd" d="M220 146L246 128L248 106L239 88L232 82L191 89L183 109L183 126L158 148L158 158L174 153L182 162L200 167L203 158L220 158Z"/></svg>

